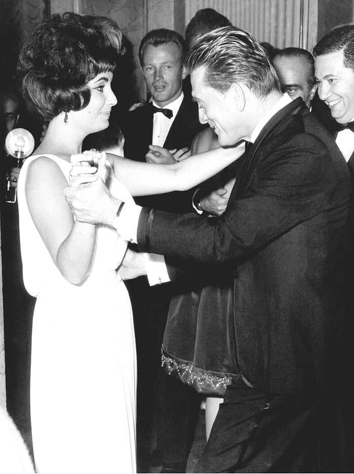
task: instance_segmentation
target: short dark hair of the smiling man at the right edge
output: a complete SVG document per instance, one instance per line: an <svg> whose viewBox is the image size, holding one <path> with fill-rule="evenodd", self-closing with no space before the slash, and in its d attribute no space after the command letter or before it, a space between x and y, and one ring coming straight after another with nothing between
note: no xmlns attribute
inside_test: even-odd
<svg viewBox="0 0 354 474"><path fill-rule="evenodd" d="M321 56L343 50L344 66L354 70L354 25L333 28L315 46L313 53Z"/></svg>

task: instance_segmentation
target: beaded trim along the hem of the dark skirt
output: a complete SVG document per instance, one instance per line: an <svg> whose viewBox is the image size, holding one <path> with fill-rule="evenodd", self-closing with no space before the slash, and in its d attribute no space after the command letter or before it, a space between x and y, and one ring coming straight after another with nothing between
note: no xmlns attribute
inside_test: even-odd
<svg viewBox="0 0 354 474"><path fill-rule="evenodd" d="M161 350L161 366L164 367L168 375L179 378L184 384L190 385L197 392L214 396L224 396L226 387L238 378L238 375L218 375L198 369L191 362L178 362L174 358L166 356L163 350Z"/></svg>

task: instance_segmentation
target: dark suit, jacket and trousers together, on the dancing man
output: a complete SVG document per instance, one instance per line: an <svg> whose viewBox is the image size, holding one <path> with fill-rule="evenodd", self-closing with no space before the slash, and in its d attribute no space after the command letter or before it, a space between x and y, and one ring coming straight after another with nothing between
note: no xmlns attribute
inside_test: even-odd
<svg viewBox="0 0 354 474"><path fill-rule="evenodd" d="M312 472L336 462L337 451L322 449L336 423L317 421L327 406L335 416L344 393L350 174L301 99L260 128L222 217L143 208L139 219L142 251L232 266L239 378L226 389L197 472ZM311 459L306 429L324 441Z"/></svg>

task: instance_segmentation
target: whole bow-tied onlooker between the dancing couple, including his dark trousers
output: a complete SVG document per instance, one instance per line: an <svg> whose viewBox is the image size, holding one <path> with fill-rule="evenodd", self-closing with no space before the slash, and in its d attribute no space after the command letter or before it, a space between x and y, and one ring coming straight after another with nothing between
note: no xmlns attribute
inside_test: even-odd
<svg viewBox="0 0 354 474"><path fill-rule="evenodd" d="M197 104L182 91L187 49L172 30L150 31L141 41L139 59L151 102L128 113L122 123L124 155L145 161L149 145L189 150L203 128ZM181 150L181 151L180 151ZM191 210L192 192L137 198L142 206L174 212ZM163 472L185 472L200 399L189 387L164 375L161 344L172 286L150 287L145 276L127 282L138 354L138 469L163 464ZM156 439L156 441L154 440ZM155 446L155 449L152 449Z"/></svg>

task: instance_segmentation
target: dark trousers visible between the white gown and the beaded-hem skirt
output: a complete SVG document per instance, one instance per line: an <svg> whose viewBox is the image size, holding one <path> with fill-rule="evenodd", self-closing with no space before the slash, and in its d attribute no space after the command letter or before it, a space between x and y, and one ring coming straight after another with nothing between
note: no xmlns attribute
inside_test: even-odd
<svg viewBox="0 0 354 474"><path fill-rule="evenodd" d="M171 285L150 287L146 277L126 282L135 326L138 361L137 464L187 465L197 424L200 395L161 367L161 345Z"/></svg>

